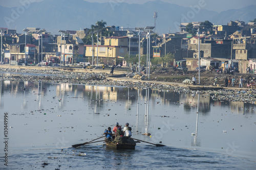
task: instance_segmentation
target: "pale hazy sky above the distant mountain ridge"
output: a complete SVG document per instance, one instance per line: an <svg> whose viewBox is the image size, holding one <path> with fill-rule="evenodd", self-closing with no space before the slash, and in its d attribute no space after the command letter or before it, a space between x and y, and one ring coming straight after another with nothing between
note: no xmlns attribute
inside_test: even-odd
<svg viewBox="0 0 256 170"><path fill-rule="evenodd" d="M0 0L0 5L4 7L17 7L22 5L20 2L40 2L44 0ZM54 1L54 0L52 0ZM70 0L72 1L72 0ZM75 2L76 0L73 0ZM97 2L97 3L129 3L129 4L144 4L148 1L160 1L160 0L86 0L88 2ZM204 2L206 6L204 9L212 11L225 11L228 9L239 9L249 5L256 5L255 0L161 0L163 2L177 4L183 7L195 6L199 2Z"/></svg>

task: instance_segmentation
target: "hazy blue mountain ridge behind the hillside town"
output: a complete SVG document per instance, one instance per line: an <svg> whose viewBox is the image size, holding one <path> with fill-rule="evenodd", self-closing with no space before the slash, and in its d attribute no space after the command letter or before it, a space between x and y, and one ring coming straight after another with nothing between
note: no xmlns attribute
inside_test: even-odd
<svg viewBox="0 0 256 170"><path fill-rule="evenodd" d="M115 1L113 1L115 2ZM253 10L254 9L254 10ZM248 22L256 18L256 5L221 13L204 9L185 8L159 1L145 4L89 3L83 0L45 0L17 8L0 6L0 27L17 29L19 33L27 27L45 28L58 34L58 30L80 30L90 28L97 20L107 26L123 28L154 26L154 12L158 12L156 30L159 33L177 32L180 22L209 20L215 25L226 25L230 20Z"/></svg>

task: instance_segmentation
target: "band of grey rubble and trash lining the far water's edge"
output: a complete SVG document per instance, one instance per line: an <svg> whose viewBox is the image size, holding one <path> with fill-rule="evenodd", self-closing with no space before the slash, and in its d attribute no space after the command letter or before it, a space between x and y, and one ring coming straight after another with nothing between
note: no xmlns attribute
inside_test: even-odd
<svg viewBox="0 0 256 170"><path fill-rule="evenodd" d="M195 93L196 91L189 90L188 87L172 86L168 84L159 84L143 81L114 81L108 80L106 77L110 74L106 73L82 73L68 72L58 70L27 70L27 69L11 69L0 68L1 80L11 81L31 81L31 82L47 82L47 83L72 83L84 85L102 85L102 86L122 86L133 88L151 88L159 91L175 91L185 93ZM5 73L5 74L3 74ZM13 74L16 73L16 74ZM19 74L20 73L20 74ZM222 90L207 90L201 93L209 94L216 101L239 101L245 103L256 104L255 89L222 89Z"/></svg>

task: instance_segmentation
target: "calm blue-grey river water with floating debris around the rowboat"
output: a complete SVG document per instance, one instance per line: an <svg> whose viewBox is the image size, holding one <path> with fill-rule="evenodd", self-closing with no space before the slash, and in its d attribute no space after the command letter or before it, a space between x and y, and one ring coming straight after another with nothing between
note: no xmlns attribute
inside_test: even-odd
<svg viewBox="0 0 256 170"><path fill-rule="evenodd" d="M254 107L191 91L1 81L0 169L255 169ZM166 146L71 147L116 122L129 123L136 139Z"/></svg>

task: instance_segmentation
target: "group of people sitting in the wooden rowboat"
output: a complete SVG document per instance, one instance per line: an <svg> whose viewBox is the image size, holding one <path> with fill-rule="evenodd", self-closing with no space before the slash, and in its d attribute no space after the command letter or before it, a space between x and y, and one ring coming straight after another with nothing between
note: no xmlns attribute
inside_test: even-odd
<svg viewBox="0 0 256 170"><path fill-rule="evenodd" d="M116 126L113 128L113 133L111 131L111 127L109 127L108 130L105 130L103 134L105 135L107 140L112 140L117 136L131 137L132 136L132 128L129 127L129 123L126 123L125 127L122 130L122 127L117 122Z"/></svg>

